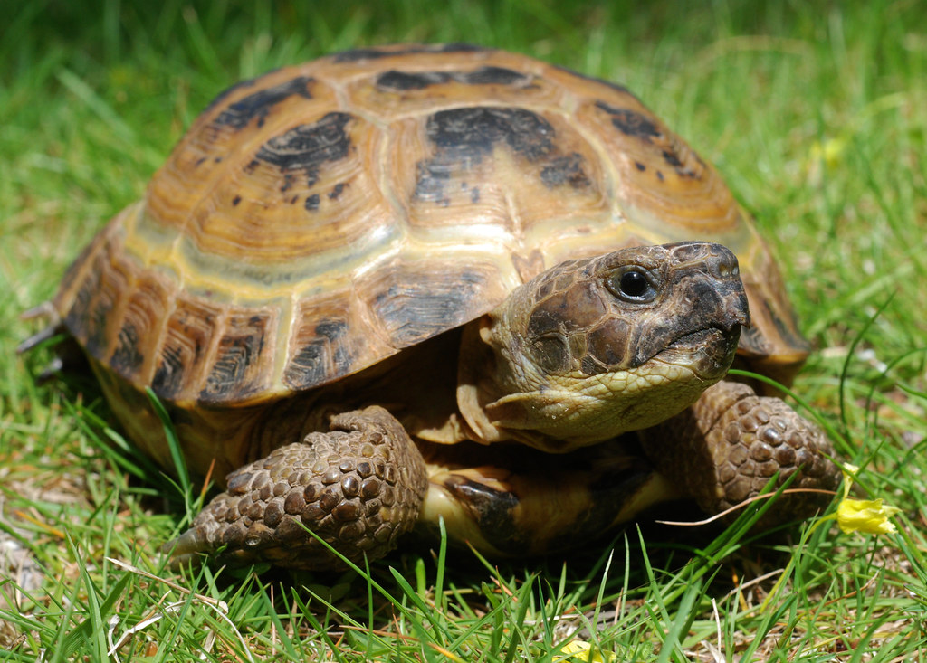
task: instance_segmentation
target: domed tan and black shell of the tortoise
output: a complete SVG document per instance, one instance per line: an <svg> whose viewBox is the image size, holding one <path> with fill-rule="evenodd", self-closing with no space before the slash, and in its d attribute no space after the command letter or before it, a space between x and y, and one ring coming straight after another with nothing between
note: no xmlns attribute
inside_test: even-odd
<svg viewBox="0 0 927 663"><path fill-rule="evenodd" d="M741 351L806 355L716 171L625 88L470 45L324 57L220 94L55 306L100 365L180 407L278 399L498 305L567 259L726 244Z"/></svg>

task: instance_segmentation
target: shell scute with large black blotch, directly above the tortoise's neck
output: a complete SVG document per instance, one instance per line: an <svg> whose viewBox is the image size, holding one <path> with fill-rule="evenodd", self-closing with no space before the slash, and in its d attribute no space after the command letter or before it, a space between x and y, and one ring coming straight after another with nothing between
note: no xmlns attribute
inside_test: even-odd
<svg viewBox="0 0 927 663"><path fill-rule="evenodd" d="M416 237L529 255L543 237L556 251L555 238L589 219L615 225L600 156L559 116L466 106L401 120L388 136L396 171L407 174L395 189Z"/></svg>

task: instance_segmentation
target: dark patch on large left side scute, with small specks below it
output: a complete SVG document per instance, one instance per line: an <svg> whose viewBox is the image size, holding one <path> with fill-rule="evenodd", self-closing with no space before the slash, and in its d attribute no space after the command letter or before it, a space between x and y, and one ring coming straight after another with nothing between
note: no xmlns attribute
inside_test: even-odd
<svg viewBox="0 0 927 663"><path fill-rule="evenodd" d="M300 124L261 145L255 158L285 172L301 170L312 186L319 180L319 169L325 162L348 156L351 142L345 127L351 119L348 113L335 112L318 122ZM288 186L285 180L284 188Z"/></svg>

